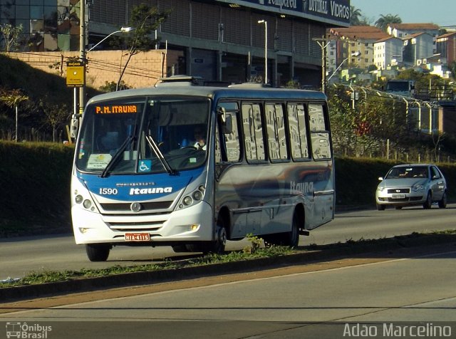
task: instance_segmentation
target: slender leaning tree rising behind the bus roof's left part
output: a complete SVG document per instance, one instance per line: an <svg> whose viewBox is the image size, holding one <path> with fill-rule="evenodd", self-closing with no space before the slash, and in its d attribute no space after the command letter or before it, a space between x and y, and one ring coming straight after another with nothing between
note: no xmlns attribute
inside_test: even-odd
<svg viewBox="0 0 456 339"><path fill-rule="evenodd" d="M146 4L140 4L139 6L133 7L128 26L135 28L135 31L127 37L122 38L130 51L128 52L125 66L123 66L122 72L120 73L116 90L119 90L120 88L120 81L122 80L125 69L131 58L133 58L135 54L143 51L150 51L155 47L155 44L159 39L150 38L150 35L167 19L168 15L168 11L160 12L157 8L150 7Z"/></svg>

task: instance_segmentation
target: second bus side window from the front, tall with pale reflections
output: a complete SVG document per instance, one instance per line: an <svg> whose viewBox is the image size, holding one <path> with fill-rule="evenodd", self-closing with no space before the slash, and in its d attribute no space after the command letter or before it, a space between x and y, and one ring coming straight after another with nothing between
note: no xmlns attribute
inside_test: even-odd
<svg viewBox="0 0 456 339"><path fill-rule="evenodd" d="M259 104L242 104L242 125L247 160L265 160L263 127Z"/></svg>

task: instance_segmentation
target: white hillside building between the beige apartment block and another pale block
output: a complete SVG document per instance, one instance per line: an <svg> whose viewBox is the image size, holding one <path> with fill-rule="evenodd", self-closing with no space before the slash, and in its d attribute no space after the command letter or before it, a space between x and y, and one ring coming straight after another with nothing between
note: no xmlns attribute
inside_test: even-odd
<svg viewBox="0 0 456 339"><path fill-rule="evenodd" d="M403 45L402 39L394 36L375 41L373 61L377 69L384 70L402 63Z"/></svg>

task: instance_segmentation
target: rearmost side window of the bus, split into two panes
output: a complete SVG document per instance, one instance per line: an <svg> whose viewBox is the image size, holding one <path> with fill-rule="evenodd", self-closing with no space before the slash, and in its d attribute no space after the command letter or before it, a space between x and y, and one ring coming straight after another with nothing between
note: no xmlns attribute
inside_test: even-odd
<svg viewBox="0 0 456 339"><path fill-rule="evenodd" d="M309 105L309 125L311 129L312 155L314 159L331 158L329 122L326 120L323 105Z"/></svg>

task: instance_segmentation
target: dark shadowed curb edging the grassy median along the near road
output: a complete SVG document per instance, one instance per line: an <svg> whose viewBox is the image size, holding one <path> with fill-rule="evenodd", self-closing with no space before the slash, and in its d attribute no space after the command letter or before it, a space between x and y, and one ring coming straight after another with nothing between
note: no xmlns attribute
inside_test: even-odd
<svg viewBox="0 0 456 339"><path fill-rule="evenodd" d="M292 266L296 264L311 264L331 259L351 258L356 254L391 251L417 246L432 246L437 244L456 245L456 234L410 234L393 238L356 241L349 243L314 246L316 250L305 251L288 256L251 259L221 264L207 264L202 266L170 268L160 271L145 271L135 273L121 273L113 276L97 278L81 278L55 283L41 283L18 287L0 287L0 301L19 301L33 298L57 296L68 293L99 291L105 288L121 288L140 286L167 281L216 276L246 271L259 271L266 268Z"/></svg>

